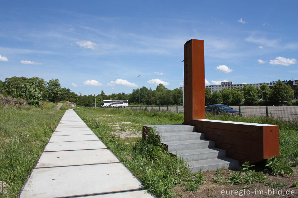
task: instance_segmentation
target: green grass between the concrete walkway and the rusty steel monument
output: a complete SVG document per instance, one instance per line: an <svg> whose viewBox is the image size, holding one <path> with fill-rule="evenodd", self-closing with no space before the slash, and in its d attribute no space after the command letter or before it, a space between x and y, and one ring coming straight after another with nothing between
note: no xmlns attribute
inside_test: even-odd
<svg viewBox="0 0 298 198"><path fill-rule="evenodd" d="M77 108L76 108L77 109ZM176 184L187 185L187 189L196 190L204 182L204 176L190 173L185 162L170 155L152 135L146 141L141 137L120 138L115 136L111 124L142 131L142 124L178 124L183 114L160 111L131 111L129 109L79 108L77 114L107 147L142 181L148 191L157 197L173 197L171 189ZM127 124L127 122L131 122Z"/></svg>

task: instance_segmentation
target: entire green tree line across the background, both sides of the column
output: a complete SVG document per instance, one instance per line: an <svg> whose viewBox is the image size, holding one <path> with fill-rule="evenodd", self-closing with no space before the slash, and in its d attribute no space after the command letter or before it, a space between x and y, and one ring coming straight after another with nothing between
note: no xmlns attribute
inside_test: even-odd
<svg viewBox="0 0 298 198"><path fill-rule="evenodd" d="M128 100L129 104L136 105L182 105L183 92L176 88L173 90L167 89L164 85L159 84L152 90L145 86L139 89L133 89L132 93L125 94L113 93L106 95L102 90L100 94L95 95L78 95L72 92L71 89L61 88L58 79L52 79L48 82L43 78L32 77L26 78L13 76L0 80L0 93L10 95L14 98L23 98L29 104L38 106L40 101L58 101L67 100L77 103L78 106L100 106L102 100ZM139 97L140 95L140 97ZM291 97L298 95L298 86L295 91L288 85L285 85L280 80L272 87L263 83L260 88L254 86L243 85L243 88L236 87L235 89L215 90L211 93L209 87L205 88L205 105L211 104L226 104L226 105L278 105L284 101L288 101L287 105L291 105ZM298 104L298 103L297 103ZM295 103L296 105L296 103Z"/></svg>

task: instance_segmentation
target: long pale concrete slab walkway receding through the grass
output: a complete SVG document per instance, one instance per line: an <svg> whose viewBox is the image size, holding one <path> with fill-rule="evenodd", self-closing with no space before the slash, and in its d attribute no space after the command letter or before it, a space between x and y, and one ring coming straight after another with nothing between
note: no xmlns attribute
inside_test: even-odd
<svg viewBox="0 0 298 198"><path fill-rule="evenodd" d="M69 109L18 197L153 197Z"/></svg>

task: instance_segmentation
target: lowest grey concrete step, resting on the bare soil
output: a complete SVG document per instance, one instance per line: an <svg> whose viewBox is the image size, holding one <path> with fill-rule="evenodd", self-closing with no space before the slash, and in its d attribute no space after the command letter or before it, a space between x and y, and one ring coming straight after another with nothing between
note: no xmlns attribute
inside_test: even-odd
<svg viewBox="0 0 298 198"><path fill-rule="evenodd" d="M231 158L214 158L207 160L199 160L199 161L189 161L188 162L189 169L192 172L205 172L205 171L213 171L217 169L233 169L239 167L239 161L231 159Z"/></svg>

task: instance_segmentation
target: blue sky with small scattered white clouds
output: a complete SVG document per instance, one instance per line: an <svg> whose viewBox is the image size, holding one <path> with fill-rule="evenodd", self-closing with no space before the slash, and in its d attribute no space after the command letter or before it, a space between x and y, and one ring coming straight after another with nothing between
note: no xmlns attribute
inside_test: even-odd
<svg viewBox="0 0 298 198"><path fill-rule="evenodd" d="M0 80L76 93L182 86L183 45L204 40L205 83L298 79L298 1L1 1Z"/></svg>

